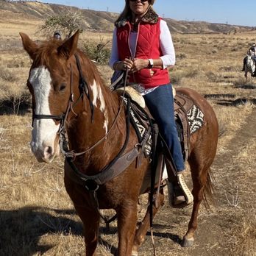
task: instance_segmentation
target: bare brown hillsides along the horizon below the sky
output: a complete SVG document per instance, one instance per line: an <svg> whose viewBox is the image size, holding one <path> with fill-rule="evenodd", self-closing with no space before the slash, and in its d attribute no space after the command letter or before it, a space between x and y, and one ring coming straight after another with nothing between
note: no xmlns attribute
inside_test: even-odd
<svg viewBox="0 0 256 256"><path fill-rule="evenodd" d="M60 4L43 4L39 1L4 1L0 0L0 10L7 10L13 13L24 13L31 18L44 19L54 13L61 13L66 9L78 10L77 7L67 7ZM85 28L90 30L112 31L113 23L118 13L101 12L95 10L81 10L84 16ZM176 21L165 18L171 32L180 34L190 33L230 33L254 30L255 27L235 26L229 24L213 24L202 21Z"/></svg>

